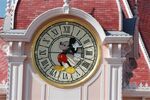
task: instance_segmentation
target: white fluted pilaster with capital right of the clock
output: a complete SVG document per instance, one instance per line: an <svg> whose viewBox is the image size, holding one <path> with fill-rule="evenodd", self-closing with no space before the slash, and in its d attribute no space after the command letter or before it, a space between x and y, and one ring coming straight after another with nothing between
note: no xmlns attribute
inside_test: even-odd
<svg viewBox="0 0 150 100"><path fill-rule="evenodd" d="M122 100L122 67L125 61L121 57L121 44L109 45L109 57L105 58L107 61L107 100ZM106 95L105 95L106 96Z"/></svg>

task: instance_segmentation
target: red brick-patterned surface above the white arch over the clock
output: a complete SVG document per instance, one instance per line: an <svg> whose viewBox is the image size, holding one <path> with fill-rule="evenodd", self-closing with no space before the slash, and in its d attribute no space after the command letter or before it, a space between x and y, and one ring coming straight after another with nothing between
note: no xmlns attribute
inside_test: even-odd
<svg viewBox="0 0 150 100"><path fill-rule="evenodd" d="M72 0L70 4L87 13L95 8L93 16L105 30L118 30L119 13L116 0ZM15 28L26 29L41 13L62 6L63 0L20 0L16 9Z"/></svg>

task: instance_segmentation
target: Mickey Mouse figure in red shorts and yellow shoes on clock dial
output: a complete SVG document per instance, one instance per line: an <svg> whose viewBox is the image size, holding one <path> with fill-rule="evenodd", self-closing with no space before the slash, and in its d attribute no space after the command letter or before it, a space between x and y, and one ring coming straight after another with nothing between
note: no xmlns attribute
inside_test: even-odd
<svg viewBox="0 0 150 100"><path fill-rule="evenodd" d="M70 38L69 41L60 42L59 48L62 50L62 52L58 55L57 60L61 66L59 66L59 68L56 68L57 70L65 70L70 74L73 74L75 72L75 68L71 66L70 62L68 61L67 54L71 54L74 56L74 54L78 51L78 47L75 46L76 43L77 41L75 38ZM69 67L65 69L63 63L68 64Z"/></svg>

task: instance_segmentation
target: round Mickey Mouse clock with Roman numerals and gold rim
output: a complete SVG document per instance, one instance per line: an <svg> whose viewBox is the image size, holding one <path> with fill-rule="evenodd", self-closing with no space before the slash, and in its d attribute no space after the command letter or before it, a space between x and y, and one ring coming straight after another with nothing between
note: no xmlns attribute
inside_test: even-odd
<svg viewBox="0 0 150 100"><path fill-rule="evenodd" d="M73 15L59 15L41 24L31 54L38 75L59 88L82 85L96 73L102 58L95 28Z"/></svg>

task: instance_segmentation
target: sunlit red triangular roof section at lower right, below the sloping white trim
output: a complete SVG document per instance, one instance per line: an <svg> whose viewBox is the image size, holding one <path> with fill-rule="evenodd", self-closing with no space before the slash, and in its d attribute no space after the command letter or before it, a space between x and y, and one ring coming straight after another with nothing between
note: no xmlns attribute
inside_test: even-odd
<svg viewBox="0 0 150 100"><path fill-rule="evenodd" d="M137 68L133 71L133 77L130 79L130 84L148 83L150 86L150 69L144 58L143 52L140 50L140 58L137 60Z"/></svg>

